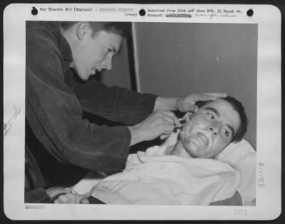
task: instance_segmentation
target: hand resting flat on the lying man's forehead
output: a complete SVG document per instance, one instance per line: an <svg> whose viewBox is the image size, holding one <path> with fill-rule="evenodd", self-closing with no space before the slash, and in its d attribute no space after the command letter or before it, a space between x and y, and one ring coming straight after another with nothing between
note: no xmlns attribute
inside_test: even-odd
<svg viewBox="0 0 285 224"><path fill-rule="evenodd" d="M197 112L198 107L195 105L197 101L215 101L217 98L224 98L226 96L226 93L193 93L177 100L177 110L182 112Z"/></svg>

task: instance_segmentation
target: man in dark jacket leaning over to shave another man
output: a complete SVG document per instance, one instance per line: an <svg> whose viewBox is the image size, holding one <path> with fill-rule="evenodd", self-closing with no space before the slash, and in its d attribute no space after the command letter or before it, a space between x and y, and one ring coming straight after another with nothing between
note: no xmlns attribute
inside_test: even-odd
<svg viewBox="0 0 285 224"><path fill-rule="evenodd" d="M123 170L130 146L180 127L172 111L227 96L166 98L95 81L91 76L112 69L130 31L121 22L26 21L25 203L51 203L48 188L72 185L88 170Z"/></svg>

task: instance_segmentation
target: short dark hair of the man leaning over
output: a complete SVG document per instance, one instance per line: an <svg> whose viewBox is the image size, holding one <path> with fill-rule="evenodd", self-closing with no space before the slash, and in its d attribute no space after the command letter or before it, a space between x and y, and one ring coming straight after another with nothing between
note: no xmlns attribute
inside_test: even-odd
<svg viewBox="0 0 285 224"><path fill-rule="evenodd" d="M62 29L69 29L79 21L61 21L59 24ZM130 22L94 22L88 21L94 32L105 31L107 33L113 33L120 36L129 38L132 33L132 24Z"/></svg>

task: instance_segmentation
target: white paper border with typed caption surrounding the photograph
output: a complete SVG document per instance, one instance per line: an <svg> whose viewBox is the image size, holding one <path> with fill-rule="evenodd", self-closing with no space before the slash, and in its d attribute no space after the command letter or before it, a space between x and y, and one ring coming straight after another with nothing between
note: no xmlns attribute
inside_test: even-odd
<svg viewBox="0 0 285 224"><path fill-rule="evenodd" d="M36 7L38 15L31 9ZM40 11L40 8L63 11ZM64 11L66 7L92 8ZM98 9L134 9L125 12ZM228 9L237 17L140 16L140 9ZM98 11L95 11L97 9ZM247 16L247 10L254 11ZM143 21L258 24L257 205L55 205L24 203L26 21ZM16 112L15 112L16 111ZM202 4L10 4L4 10L4 122L16 113L4 136L4 212L12 220L272 220L281 213L281 13L271 5ZM274 133L274 134L273 134ZM269 139L270 138L270 139ZM259 172L259 171L262 172ZM263 179L261 179L263 178ZM260 187L264 183L265 188Z"/></svg>

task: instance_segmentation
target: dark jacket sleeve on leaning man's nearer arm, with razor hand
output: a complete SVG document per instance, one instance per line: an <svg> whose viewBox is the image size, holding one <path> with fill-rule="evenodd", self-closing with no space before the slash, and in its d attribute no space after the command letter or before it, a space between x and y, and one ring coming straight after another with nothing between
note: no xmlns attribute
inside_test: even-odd
<svg viewBox="0 0 285 224"><path fill-rule="evenodd" d="M26 36L26 118L43 146L61 162L89 170L125 168L130 131L83 120L81 104L63 81L65 63L51 34Z"/></svg>

